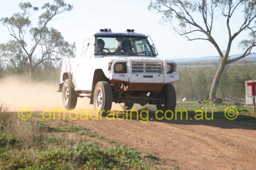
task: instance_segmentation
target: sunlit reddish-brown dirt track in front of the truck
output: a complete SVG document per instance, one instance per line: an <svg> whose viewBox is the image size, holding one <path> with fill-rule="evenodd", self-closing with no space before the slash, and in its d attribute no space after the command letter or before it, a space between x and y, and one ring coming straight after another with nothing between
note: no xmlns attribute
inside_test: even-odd
<svg viewBox="0 0 256 170"><path fill-rule="evenodd" d="M120 115L121 116L121 115ZM151 118L153 120L151 120ZM133 119L136 119L134 117ZM74 126L161 158L161 167L173 169L255 169L256 124L221 119L71 120Z"/></svg>

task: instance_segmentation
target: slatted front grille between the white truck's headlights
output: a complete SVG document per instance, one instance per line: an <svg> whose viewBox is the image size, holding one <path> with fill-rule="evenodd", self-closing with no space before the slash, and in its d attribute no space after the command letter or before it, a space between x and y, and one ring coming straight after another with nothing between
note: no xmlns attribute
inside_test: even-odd
<svg viewBox="0 0 256 170"><path fill-rule="evenodd" d="M132 62L132 73L162 73L162 63L135 63Z"/></svg>

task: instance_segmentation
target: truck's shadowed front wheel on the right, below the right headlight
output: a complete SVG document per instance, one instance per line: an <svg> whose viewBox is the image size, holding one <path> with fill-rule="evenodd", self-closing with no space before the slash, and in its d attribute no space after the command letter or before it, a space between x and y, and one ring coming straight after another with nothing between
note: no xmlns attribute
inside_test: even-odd
<svg viewBox="0 0 256 170"><path fill-rule="evenodd" d="M165 112L166 110L172 110L175 112L176 107L176 92L172 84L165 84L161 93L164 94L165 102L157 103L157 110L162 110Z"/></svg>

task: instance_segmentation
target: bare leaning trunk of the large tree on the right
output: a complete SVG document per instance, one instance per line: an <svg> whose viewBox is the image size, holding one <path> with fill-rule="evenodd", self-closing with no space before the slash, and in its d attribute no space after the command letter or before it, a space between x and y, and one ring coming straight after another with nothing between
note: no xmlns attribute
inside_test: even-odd
<svg viewBox="0 0 256 170"><path fill-rule="evenodd" d="M210 95L209 95L209 99L213 100L216 98L216 92L217 92L217 88L219 85L219 80L221 79L221 75L224 71L224 68L226 66L226 63L224 60L221 59L221 63L219 64L218 70L214 76L214 79L212 81L211 84L211 90L210 90Z"/></svg>

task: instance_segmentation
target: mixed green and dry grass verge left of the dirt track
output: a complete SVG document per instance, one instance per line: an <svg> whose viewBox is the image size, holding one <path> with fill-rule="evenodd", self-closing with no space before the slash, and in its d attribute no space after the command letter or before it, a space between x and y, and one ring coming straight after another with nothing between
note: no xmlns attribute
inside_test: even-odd
<svg viewBox="0 0 256 170"><path fill-rule="evenodd" d="M7 117L0 113L0 169L155 169L158 163L158 158L153 155L130 147L108 147L87 139L74 141L51 135L52 132L66 132L103 139L83 127L52 127L42 122L17 119L16 114ZM32 142L20 141L20 134L4 127L16 121L22 127L33 124L34 128L38 128L37 138L27 139ZM111 140L108 142L116 143Z"/></svg>

